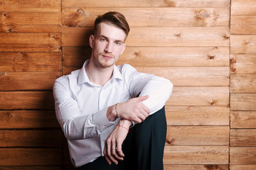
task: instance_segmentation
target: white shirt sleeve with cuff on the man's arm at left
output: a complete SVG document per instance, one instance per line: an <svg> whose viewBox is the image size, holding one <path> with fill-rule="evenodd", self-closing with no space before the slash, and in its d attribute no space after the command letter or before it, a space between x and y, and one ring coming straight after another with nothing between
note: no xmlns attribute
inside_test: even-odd
<svg viewBox="0 0 256 170"><path fill-rule="evenodd" d="M67 79L57 79L53 84L55 114L68 140L83 140L114 125L107 120L107 108L96 113L82 115L78 103L70 94Z"/></svg>

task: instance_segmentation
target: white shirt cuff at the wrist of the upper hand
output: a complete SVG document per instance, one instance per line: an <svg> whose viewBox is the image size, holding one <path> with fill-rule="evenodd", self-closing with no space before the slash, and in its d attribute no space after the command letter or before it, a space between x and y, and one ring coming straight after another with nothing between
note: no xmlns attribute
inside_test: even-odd
<svg viewBox="0 0 256 170"><path fill-rule="evenodd" d="M92 120L95 123L95 126L97 127L100 132L105 130L105 128L110 127L111 125L114 125L114 122L110 122L110 120L107 120L107 108L102 109L101 111L98 111L97 113L93 114Z"/></svg>

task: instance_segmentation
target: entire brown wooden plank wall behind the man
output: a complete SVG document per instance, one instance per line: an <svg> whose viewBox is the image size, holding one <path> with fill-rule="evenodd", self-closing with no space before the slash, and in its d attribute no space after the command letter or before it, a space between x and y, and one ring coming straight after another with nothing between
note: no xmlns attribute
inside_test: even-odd
<svg viewBox="0 0 256 170"><path fill-rule="evenodd" d="M255 0L0 4L0 169L73 169L51 89L90 57L93 21L107 11L131 26L118 64L174 84L164 169L256 168Z"/></svg>

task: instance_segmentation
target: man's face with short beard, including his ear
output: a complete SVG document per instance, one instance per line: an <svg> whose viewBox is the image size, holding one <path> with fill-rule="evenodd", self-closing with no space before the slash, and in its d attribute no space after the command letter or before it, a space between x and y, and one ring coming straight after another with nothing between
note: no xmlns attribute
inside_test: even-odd
<svg viewBox="0 0 256 170"><path fill-rule="evenodd" d="M92 47L90 62L94 62L96 67L114 66L124 52L126 36L124 30L109 23L100 23L96 37L90 35L90 47Z"/></svg>

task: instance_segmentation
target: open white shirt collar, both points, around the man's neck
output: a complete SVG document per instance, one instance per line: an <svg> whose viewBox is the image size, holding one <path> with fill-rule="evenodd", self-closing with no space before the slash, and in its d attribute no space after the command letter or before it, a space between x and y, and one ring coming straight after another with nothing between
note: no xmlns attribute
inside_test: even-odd
<svg viewBox="0 0 256 170"><path fill-rule="evenodd" d="M79 75L78 75L78 85L84 84L84 83L90 83L89 78L87 77L87 74L85 72L85 66L90 62L90 60L86 60L85 63L82 65L82 68L80 69ZM114 71L113 75L110 79L110 83L113 84L114 79L123 79L121 72L119 69L117 69L117 66L114 65Z"/></svg>

